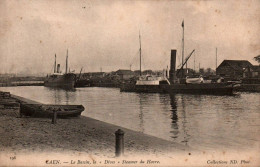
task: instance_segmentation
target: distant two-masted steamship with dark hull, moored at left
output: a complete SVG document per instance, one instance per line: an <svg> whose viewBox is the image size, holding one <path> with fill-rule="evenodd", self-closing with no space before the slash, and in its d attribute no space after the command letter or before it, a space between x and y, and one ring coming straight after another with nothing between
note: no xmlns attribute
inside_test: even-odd
<svg viewBox="0 0 260 167"><path fill-rule="evenodd" d="M66 69L65 73L61 73L60 64L57 64L56 68L56 54L54 62L54 72L51 75L47 75L44 80L44 86L47 87L61 87L61 88L74 88L76 75L68 72L68 50L66 57Z"/></svg>

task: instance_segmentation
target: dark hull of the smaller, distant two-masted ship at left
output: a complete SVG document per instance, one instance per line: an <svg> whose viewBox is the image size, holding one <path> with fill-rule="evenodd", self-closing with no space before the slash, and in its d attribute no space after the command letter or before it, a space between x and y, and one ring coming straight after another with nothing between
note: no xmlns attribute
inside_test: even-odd
<svg viewBox="0 0 260 167"><path fill-rule="evenodd" d="M44 86L47 87L61 87L61 88L74 88L75 86L75 74L64 74L49 76L44 81Z"/></svg>

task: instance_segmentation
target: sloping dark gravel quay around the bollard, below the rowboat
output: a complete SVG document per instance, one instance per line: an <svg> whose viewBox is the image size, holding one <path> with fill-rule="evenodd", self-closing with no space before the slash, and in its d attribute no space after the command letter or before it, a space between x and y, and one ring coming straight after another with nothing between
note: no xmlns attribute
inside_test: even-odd
<svg viewBox="0 0 260 167"><path fill-rule="evenodd" d="M11 95L26 103L37 103L30 99ZM169 153L188 155L194 151L188 146L146 135L123 127L105 123L89 117L50 119L21 117L7 114L19 109L0 109L0 154L10 152L83 152L101 157L114 157L115 131L125 132L126 156L168 156ZM3 114L5 113L5 114Z"/></svg>

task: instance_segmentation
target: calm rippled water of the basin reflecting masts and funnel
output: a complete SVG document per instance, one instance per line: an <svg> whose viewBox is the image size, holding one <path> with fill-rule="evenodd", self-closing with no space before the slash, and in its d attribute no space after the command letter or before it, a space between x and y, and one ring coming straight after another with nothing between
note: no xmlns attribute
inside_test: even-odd
<svg viewBox="0 0 260 167"><path fill-rule="evenodd" d="M42 103L82 104L82 115L193 148L252 149L260 143L260 93L235 96L138 94L116 88L8 87Z"/></svg>

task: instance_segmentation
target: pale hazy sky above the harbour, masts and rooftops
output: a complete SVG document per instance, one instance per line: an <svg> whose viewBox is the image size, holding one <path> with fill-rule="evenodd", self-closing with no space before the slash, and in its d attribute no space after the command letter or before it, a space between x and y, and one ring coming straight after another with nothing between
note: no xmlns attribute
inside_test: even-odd
<svg viewBox="0 0 260 167"><path fill-rule="evenodd" d="M162 70L171 49L188 67L216 68L224 59L260 54L259 0L2 0L0 73L51 73L54 55L65 71ZM195 60L195 63L194 63Z"/></svg>

